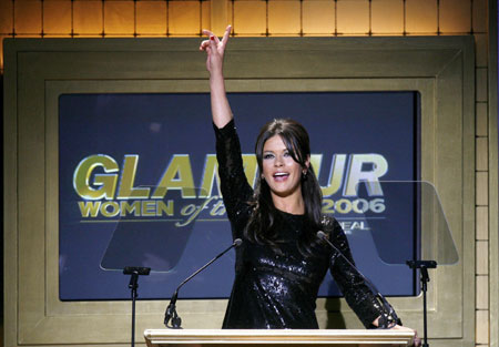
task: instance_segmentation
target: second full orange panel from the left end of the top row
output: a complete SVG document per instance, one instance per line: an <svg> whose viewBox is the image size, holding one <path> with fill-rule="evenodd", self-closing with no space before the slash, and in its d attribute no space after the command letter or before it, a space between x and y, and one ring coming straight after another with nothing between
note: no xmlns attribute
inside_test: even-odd
<svg viewBox="0 0 499 347"><path fill-rule="evenodd" d="M70 1L43 1L43 33L48 35L71 34Z"/></svg>

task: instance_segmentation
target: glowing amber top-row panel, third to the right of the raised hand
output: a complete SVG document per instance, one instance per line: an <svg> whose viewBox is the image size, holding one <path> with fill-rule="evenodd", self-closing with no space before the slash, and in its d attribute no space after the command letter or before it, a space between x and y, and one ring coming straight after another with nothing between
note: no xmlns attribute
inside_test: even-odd
<svg viewBox="0 0 499 347"><path fill-rule="evenodd" d="M303 33L333 34L336 30L336 7L332 0L302 2Z"/></svg>

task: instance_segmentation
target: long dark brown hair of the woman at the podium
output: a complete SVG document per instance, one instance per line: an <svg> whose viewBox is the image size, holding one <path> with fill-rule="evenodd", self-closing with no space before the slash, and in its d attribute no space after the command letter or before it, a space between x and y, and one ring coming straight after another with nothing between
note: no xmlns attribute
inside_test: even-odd
<svg viewBox="0 0 499 347"><path fill-rule="evenodd" d="M255 153L261 174L257 178L253 201L251 202L254 205L253 214L244 233L247 238L256 243L276 245L278 214L272 201L271 188L267 182L262 178L263 149L265 142L275 135L281 136L293 160L306 170L306 173L302 175L302 196L305 203L305 233L303 233L299 241L299 248L303 253L309 253L317 238L316 233L322 228L322 191L312 165L306 166L306 162L310 157L308 133L302 124L293 120L278 119L268 122L262 127L256 139Z"/></svg>

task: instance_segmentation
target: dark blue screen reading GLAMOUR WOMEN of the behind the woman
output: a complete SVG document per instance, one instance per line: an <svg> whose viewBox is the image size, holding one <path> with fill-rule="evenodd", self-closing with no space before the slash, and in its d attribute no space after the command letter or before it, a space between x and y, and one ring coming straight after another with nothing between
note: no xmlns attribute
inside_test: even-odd
<svg viewBox="0 0 499 347"><path fill-rule="evenodd" d="M303 123L323 211L344 227L359 268L386 295L416 295L404 265L417 256L415 210L387 218L397 204L383 188L360 187L361 196L357 188L418 180L418 93L233 93L230 101L251 184L259 127L274 118ZM152 267L140 298L169 298L232 243L216 171L208 94L61 95L60 299L128 299L123 266ZM233 277L230 253L180 297L228 297ZM340 295L329 275L319 295Z"/></svg>

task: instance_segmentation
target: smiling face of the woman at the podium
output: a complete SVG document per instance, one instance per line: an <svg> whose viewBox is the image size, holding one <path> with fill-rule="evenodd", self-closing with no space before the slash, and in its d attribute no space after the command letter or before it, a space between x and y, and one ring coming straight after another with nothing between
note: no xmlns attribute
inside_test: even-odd
<svg viewBox="0 0 499 347"><path fill-rule="evenodd" d="M273 195L287 197L302 195L302 172L279 135L269 137L263 147L263 177Z"/></svg>

